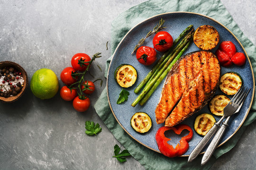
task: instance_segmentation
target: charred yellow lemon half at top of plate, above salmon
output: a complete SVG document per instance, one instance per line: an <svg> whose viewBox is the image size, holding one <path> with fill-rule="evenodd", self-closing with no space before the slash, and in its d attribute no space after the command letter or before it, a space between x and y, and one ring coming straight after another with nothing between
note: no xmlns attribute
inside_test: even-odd
<svg viewBox="0 0 256 170"><path fill-rule="evenodd" d="M198 48L211 50L219 43L219 33L213 26L203 25L196 29L193 40Z"/></svg>

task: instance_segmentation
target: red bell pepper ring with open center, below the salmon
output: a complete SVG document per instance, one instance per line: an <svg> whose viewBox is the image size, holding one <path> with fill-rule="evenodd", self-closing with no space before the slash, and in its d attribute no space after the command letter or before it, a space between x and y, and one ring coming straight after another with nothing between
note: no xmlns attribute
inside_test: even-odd
<svg viewBox="0 0 256 170"><path fill-rule="evenodd" d="M172 145L167 143L171 139L165 137L165 131L173 130L175 134L180 135L184 129L188 130L189 134L183 136L180 140L180 144L177 144L174 149ZM193 131L188 125L178 125L176 127L160 127L155 134L155 139L160 152L167 157L173 158L187 152L189 148L188 142L192 139L192 136Z"/></svg>

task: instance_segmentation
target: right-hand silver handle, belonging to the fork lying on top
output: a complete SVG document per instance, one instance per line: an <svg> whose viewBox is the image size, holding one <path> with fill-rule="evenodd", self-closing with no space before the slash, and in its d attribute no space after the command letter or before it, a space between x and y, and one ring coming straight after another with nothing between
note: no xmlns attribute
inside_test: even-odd
<svg viewBox="0 0 256 170"><path fill-rule="evenodd" d="M204 165L207 161L210 160L210 157L211 157L212 153L217 148L221 137L223 136L226 128L229 126L228 125L229 119L230 119L230 116L225 120L225 122L222 123L222 125L219 128L218 132L213 137L210 145L208 146L207 150L205 151L205 153L204 153L204 155L202 157L201 165Z"/></svg>

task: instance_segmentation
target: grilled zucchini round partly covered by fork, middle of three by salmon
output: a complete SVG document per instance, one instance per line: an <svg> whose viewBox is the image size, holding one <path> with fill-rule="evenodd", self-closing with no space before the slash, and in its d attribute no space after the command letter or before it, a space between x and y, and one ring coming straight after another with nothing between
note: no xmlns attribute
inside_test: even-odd
<svg viewBox="0 0 256 170"><path fill-rule="evenodd" d="M230 99L222 94L214 96L209 102L210 112L217 116L223 116L223 109L230 102Z"/></svg>

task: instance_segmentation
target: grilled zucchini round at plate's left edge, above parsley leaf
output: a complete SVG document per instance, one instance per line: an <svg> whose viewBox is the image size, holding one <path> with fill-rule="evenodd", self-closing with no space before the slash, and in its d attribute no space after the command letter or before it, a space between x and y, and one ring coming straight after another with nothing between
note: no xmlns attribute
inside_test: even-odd
<svg viewBox="0 0 256 170"><path fill-rule="evenodd" d="M137 80L137 71L131 65L121 64L115 71L115 80L121 87L130 87Z"/></svg>

